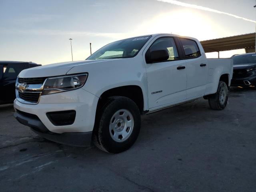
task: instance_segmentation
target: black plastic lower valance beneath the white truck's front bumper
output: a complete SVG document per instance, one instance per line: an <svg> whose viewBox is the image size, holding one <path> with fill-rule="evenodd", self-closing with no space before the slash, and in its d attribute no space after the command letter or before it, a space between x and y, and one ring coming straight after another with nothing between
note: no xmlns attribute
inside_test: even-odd
<svg viewBox="0 0 256 192"><path fill-rule="evenodd" d="M36 134L50 141L71 146L90 146L91 144L92 132L69 132L58 134L50 132L36 115L16 110L14 117L21 124L29 126Z"/></svg>

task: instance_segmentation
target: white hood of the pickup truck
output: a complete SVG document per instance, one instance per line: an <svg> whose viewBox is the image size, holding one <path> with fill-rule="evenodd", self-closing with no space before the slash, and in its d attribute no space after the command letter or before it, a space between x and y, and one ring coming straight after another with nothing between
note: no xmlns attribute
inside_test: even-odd
<svg viewBox="0 0 256 192"><path fill-rule="evenodd" d="M74 62L54 63L34 68L22 70L19 74L20 78L35 78L35 77L50 77L66 75L67 72L75 66L90 65L99 62L109 62L116 59L102 59L102 60L82 60Z"/></svg>

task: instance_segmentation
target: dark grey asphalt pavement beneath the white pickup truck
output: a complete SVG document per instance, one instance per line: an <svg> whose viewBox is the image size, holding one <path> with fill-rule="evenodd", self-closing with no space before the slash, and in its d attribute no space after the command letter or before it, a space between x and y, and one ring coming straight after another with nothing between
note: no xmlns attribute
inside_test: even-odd
<svg viewBox="0 0 256 192"><path fill-rule="evenodd" d="M142 116L126 152L45 140L0 106L1 192L256 191L256 90L232 88L225 110L199 99Z"/></svg>

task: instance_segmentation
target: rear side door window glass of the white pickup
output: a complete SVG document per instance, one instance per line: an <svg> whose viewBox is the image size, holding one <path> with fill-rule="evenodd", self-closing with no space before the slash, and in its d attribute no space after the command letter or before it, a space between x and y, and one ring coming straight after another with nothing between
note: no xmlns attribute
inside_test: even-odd
<svg viewBox="0 0 256 192"><path fill-rule="evenodd" d="M194 40L180 38L180 42L185 53L185 59L197 58L201 56L198 44Z"/></svg>

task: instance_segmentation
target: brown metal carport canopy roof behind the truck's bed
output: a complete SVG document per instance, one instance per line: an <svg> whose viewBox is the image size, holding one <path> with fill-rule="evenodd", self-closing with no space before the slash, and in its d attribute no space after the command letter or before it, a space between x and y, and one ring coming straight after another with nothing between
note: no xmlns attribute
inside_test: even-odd
<svg viewBox="0 0 256 192"><path fill-rule="evenodd" d="M255 50L255 33L205 40L201 44L206 53L236 49Z"/></svg>

